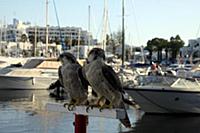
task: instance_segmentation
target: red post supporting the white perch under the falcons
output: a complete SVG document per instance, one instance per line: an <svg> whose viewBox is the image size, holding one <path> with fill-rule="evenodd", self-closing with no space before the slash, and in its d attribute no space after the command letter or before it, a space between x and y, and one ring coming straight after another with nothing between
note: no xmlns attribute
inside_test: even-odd
<svg viewBox="0 0 200 133"><path fill-rule="evenodd" d="M75 114L75 133L86 133L88 116Z"/></svg>

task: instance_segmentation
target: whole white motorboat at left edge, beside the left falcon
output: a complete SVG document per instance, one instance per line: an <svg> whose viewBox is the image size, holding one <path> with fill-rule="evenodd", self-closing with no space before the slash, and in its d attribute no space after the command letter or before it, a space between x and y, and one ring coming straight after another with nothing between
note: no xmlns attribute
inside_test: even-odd
<svg viewBox="0 0 200 133"><path fill-rule="evenodd" d="M32 57L22 66L11 65L2 68L0 99L20 95L29 97L34 91L46 91L49 85L58 79L59 66L60 63L56 59Z"/></svg>

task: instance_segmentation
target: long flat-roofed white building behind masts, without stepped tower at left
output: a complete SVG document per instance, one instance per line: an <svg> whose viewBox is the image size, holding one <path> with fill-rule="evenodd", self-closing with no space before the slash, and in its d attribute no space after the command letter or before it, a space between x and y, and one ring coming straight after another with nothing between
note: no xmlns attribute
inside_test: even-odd
<svg viewBox="0 0 200 133"><path fill-rule="evenodd" d="M26 33L28 34L29 39L36 36L38 41L46 42L46 27L31 26L26 29ZM61 42L62 37L65 44L68 45L76 45L78 39L82 45L87 45L88 40L90 40L90 44L96 44L96 40L92 38L92 35L89 32L82 30L80 27L49 26L48 37L49 43L59 43Z"/></svg>

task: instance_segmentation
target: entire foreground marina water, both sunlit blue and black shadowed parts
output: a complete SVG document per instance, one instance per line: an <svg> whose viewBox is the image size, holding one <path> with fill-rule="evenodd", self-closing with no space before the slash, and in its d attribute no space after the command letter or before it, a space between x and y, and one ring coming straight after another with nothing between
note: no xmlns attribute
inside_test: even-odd
<svg viewBox="0 0 200 133"><path fill-rule="evenodd" d="M199 115L144 115L128 110L132 129L118 120L89 117L88 133L200 133ZM0 102L0 133L74 133L71 113L37 110L29 100Z"/></svg>

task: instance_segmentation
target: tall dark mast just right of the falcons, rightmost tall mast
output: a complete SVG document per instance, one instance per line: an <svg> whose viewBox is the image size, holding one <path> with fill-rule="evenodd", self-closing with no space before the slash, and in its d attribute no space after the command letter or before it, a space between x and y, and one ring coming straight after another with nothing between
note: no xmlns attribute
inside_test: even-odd
<svg viewBox="0 0 200 133"><path fill-rule="evenodd" d="M124 0L122 0L122 67L124 67L124 45L125 45L125 33L124 33Z"/></svg>

